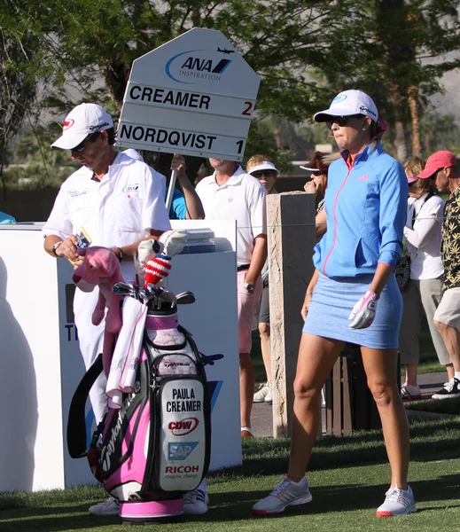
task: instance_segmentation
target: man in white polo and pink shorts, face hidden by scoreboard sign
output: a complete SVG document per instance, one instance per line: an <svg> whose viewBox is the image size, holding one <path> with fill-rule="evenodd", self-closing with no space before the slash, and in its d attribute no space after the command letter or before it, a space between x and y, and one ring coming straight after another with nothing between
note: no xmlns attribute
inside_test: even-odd
<svg viewBox="0 0 460 532"><path fill-rule="evenodd" d="M241 436L251 437L255 373L251 361L253 315L261 300L267 259L266 191L233 160L209 159L212 176L197 185L205 219L238 220L238 340Z"/></svg>

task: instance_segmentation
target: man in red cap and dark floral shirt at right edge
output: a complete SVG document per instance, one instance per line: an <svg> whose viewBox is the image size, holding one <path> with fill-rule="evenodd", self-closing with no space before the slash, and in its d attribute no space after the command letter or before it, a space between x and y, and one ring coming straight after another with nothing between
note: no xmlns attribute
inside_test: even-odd
<svg viewBox="0 0 460 532"><path fill-rule="evenodd" d="M447 399L460 396L460 174L454 153L433 153L426 161L424 171L418 174L421 178L430 176L435 179L438 191L450 192L442 222L443 294L433 317L454 366L453 377L433 395L433 399Z"/></svg>

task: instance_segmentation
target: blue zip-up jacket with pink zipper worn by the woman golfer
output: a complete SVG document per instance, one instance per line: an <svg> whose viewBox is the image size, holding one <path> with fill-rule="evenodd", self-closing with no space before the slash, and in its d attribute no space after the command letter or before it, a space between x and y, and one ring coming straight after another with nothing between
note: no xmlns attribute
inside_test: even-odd
<svg viewBox="0 0 460 532"><path fill-rule="evenodd" d="M351 167L347 151L341 155L329 168L327 231L315 247L313 262L329 278L373 274L378 262L394 269L407 218L404 169L380 142L364 148Z"/></svg>

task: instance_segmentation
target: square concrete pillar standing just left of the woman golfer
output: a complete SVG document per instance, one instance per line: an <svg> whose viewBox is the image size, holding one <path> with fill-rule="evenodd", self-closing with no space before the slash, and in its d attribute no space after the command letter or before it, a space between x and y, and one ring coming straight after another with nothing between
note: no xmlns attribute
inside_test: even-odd
<svg viewBox="0 0 460 532"><path fill-rule="evenodd" d="M303 320L300 309L313 275L315 196L284 192L267 196L273 436L290 435L293 381Z"/></svg>

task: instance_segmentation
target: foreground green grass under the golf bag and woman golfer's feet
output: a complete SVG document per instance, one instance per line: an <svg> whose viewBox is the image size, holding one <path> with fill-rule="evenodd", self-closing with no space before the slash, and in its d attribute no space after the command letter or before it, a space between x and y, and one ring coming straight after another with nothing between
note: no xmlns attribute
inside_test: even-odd
<svg viewBox="0 0 460 532"><path fill-rule="evenodd" d="M288 509L285 517L256 518L251 507L285 473L288 440L254 438L244 442L242 467L208 478L209 512L161 525L162 532L432 532L460 529L460 419L411 426L409 477L417 497L416 514L396 520L375 518L389 482L386 451L379 431L318 442L308 480L310 505ZM86 466L82 462L82 466ZM0 494L2 532L121 532L118 518L97 518L88 506L105 497L97 487L42 493ZM396 524L397 523L397 524ZM155 529L130 528L134 530ZM157 528L158 529L158 528Z"/></svg>

